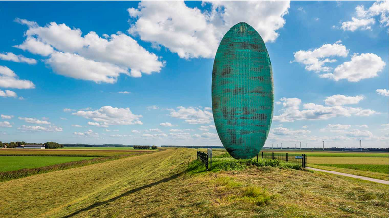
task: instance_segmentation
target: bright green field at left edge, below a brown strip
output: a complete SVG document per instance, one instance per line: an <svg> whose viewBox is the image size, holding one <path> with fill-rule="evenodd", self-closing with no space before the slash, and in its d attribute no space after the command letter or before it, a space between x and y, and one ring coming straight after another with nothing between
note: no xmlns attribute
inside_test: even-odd
<svg viewBox="0 0 389 218"><path fill-rule="evenodd" d="M0 172L16 171L23 168L43 167L92 158L93 157L74 156L0 156Z"/></svg>

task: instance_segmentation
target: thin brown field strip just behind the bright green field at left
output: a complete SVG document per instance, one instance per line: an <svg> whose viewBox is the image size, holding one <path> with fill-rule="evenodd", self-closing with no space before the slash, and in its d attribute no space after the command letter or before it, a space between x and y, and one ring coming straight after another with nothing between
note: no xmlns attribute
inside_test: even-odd
<svg viewBox="0 0 389 218"><path fill-rule="evenodd" d="M0 149L0 156L115 156L151 153L151 150Z"/></svg>

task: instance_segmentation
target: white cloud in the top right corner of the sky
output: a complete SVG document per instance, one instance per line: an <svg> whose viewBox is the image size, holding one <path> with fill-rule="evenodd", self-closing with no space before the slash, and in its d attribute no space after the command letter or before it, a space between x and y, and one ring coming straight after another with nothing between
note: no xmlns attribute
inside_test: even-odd
<svg viewBox="0 0 389 218"><path fill-rule="evenodd" d="M344 31L356 31L361 30L371 30L372 25L375 24L376 16L379 16L379 23L381 26L388 26L388 12L389 6L387 1L377 1L371 5L370 8L365 10L365 6L358 5L355 8L357 17L352 17L351 21L346 21L342 23L342 29Z"/></svg>

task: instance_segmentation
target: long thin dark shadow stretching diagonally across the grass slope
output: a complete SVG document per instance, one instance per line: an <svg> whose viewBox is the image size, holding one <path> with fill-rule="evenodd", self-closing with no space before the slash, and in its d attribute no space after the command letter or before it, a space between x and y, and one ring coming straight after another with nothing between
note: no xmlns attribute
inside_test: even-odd
<svg viewBox="0 0 389 218"><path fill-rule="evenodd" d="M172 176L170 176L170 177L168 177L168 178L161 179L161 180L159 180L159 181L157 181L157 182L150 183L150 184L144 185L144 186L142 186L142 187L138 187L138 188L135 188L135 189L126 191L126 192L124 192L123 194L118 195L118 196L116 196L116 197L114 197L114 198L108 199L108 200L106 200L106 201L96 202L96 203L94 203L94 204L92 204L92 205L90 205L90 206L88 206L88 207L85 207L85 208L82 208L82 209L80 209L80 210L77 210L77 211L75 211L75 212L73 212L73 213L71 213L71 214L69 214L69 215L66 215L66 216L64 216L64 217L62 217L62 218L69 218L69 217L75 216L75 215L77 215L77 214L79 214L79 213L81 213L81 212L88 211L88 210L90 210L90 209L93 209L93 208L95 208L95 207L98 207L98 206L107 204L107 203L109 203L109 202L113 202L113 201L115 201L115 200L117 200L117 199L119 199L119 198L122 198L122 197L124 197L124 196L130 195L130 194L135 193L135 192L138 192L138 191L141 191L141 190L143 190L143 189L145 189L145 188L153 187L153 186L158 185L158 184L160 184L160 183L168 182L168 181L170 181L170 180L172 180L172 179L176 179L177 177L179 177L179 176L182 175L183 173L184 173L184 172L180 172L180 173L174 174L174 175L172 175Z"/></svg>

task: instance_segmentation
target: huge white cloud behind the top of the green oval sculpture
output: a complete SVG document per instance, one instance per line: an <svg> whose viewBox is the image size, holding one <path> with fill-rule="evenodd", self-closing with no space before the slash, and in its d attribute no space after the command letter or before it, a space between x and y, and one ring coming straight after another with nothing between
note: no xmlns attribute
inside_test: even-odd
<svg viewBox="0 0 389 218"><path fill-rule="evenodd" d="M254 27L265 42L275 41L285 24L289 1L212 1L211 11L189 8L183 1L142 1L128 13L128 32L154 47L163 45L181 58L213 58L226 31L239 22Z"/></svg>

